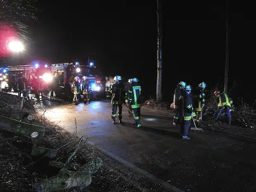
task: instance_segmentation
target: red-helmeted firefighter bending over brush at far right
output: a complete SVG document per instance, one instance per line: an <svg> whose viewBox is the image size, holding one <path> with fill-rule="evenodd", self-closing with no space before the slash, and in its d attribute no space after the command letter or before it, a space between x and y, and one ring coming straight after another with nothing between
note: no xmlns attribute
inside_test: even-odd
<svg viewBox="0 0 256 192"><path fill-rule="evenodd" d="M228 118L228 124L231 124L231 111L234 109L234 104L231 98L225 92L220 92L216 90L214 95L217 98L218 108L216 111L216 121L218 121L220 114L222 113L223 109L225 109L226 116Z"/></svg>

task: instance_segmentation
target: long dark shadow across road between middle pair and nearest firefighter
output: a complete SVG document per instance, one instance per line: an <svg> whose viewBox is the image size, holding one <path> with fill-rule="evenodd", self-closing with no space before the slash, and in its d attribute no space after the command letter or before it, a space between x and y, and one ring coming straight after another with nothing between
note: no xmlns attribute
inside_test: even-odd
<svg viewBox="0 0 256 192"><path fill-rule="evenodd" d="M133 125L131 123L123 122L122 125L133 128ZM144 130L144 131L149 132L149 133L158 133L158 134L161 134L161 135L170 135L171 137L175 137L175 138L180 139L181 136L180 136L179 132L164 130L164 128L166 128L166 127L153 128L153 127L147 127L147 126L142 125L142 127L134 128L134 129Z"/></svg>

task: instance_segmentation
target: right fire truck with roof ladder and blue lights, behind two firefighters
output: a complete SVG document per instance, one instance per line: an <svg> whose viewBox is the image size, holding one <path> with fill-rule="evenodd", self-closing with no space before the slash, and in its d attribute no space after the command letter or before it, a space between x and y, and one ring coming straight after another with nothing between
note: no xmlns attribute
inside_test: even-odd
<svg viewBox="0 0 256 192"><path fill-rule="evenodd" d="M102 75L93 63L89 65L81 65L79 62L56 63L52 64L52 76L58 81L58 87L64 89L64 92L71 92L71 85L76 76L79 77L79 83L82 87L82 78L87 76L90 81L91 98L97 98L99 94L104 92Z"/></svg>

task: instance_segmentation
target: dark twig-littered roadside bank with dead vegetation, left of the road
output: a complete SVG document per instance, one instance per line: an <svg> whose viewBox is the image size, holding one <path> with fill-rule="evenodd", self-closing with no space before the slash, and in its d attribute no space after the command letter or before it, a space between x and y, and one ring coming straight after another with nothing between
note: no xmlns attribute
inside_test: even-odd
<svg viewBox="0 0 256 192"><path fill-rule="evenodd" d="M78 138L75 132L71 134L51 124L43 115L36 116L30 105L31 102L26 102L21 121L45 127L44 136L32 138L0 130L0 191L36 191L35 187L38 191L45 191L45 186L48 191L56 191L56 187L60 186L58 191L62 189L66 192L140 191L110 165L103 163L102 166L99 158L104 161L106 157L86 144L86 138ZM0 92L0 108L1 116L19 121L21 107L14 95ZM32 115L33 120L29 121L28 115ZM35 149L36 152L33 152ZM49 156L45 152L41 153L40 149L50 149L53 153ZM59 177L80 182L63 185ZM49 181L55 182L54 185L49 187ZM85 182L92 183L85 186Z"/></svg>

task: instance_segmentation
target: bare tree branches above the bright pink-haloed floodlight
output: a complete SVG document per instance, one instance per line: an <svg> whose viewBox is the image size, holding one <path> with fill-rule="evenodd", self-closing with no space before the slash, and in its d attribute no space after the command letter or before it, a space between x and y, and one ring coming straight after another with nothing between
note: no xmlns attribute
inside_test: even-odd
<svg viewBox="0 0 256 192"><path fill-rule="evenodd" d="M0 26L10 25L24 40L29 40L28 24L36 21L37 0L0 0Z"/></svg>

